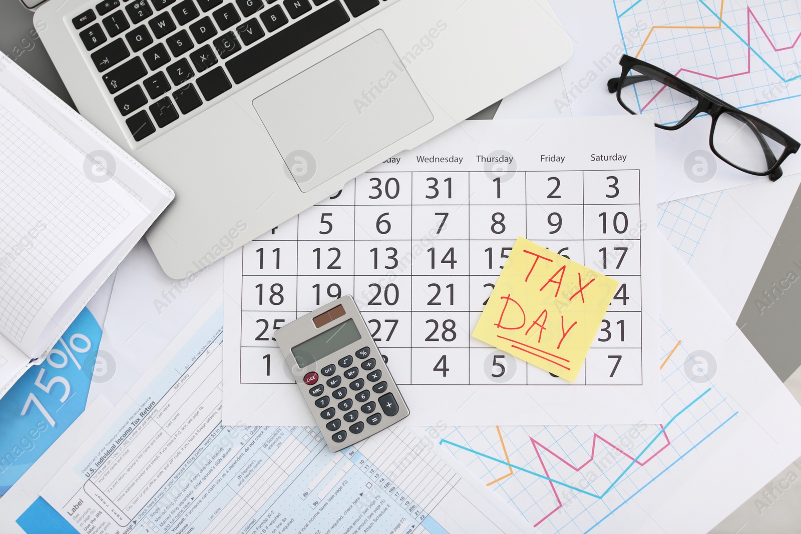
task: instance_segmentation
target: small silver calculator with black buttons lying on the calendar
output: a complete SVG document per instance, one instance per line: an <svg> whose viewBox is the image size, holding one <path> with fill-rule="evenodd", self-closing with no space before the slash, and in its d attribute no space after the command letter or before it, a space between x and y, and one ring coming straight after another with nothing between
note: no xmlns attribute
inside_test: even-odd
<svg viewBox="0 0 801 534"><path fill-rule="evenodd" d="M275 335L332 452L409 416L351 296L280 327Z"/></svg>

